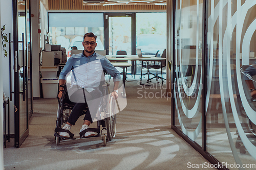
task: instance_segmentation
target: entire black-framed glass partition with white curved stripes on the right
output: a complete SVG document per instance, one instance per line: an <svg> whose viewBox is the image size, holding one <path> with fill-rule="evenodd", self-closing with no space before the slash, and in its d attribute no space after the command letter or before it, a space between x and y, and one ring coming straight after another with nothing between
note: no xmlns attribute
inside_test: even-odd
<svg viewBox="0 0 256 170"><path fill-rule="evenodd" d="M255 169L256 2L170 2L172 128L207 167Z"/></svg>

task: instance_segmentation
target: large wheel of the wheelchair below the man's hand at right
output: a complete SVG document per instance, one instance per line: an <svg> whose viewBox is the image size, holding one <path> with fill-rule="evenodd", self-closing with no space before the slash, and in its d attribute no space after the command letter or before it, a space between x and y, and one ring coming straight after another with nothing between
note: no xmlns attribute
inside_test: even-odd
<svg viewBox="0 0 256 170"><path fill-rule="evenodd" d="M106 127L109 140L116 136L116 104L113 96L110 98L109 117L106 118Z"/></svg>

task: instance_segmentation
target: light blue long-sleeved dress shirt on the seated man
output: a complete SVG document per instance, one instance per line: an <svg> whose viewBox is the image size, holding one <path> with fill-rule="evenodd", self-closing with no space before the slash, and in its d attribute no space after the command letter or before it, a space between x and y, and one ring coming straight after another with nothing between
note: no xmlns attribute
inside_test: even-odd
<svg viewBox="0 0 256 170"><path fill-rule="evenodd" d="M59 80L66 80L67 75L72 70L71 87L79 86L86 88L89 92L94 90L94 87L98 87L100 81L102 81L103 70L108 72L113 81L120 81L120 72L111 64L111 62L105 57L97 53L86 57L83 53L72 55L67 61L64 68L61 70ZM103 78L104 80L104 78ZM72 92L71 92L72 91ZM69 91L73 93L73 90Z"/></svg>

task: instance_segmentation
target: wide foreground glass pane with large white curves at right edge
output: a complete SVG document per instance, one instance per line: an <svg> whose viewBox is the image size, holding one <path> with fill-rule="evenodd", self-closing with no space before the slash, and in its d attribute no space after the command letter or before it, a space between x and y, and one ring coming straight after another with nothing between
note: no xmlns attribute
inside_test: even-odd
<svg viewBox="0 0 256 170"><path fill-rule="evenodd" d="M254 164L245 167L254 169L256 105L250 65L255 62L256 6L251 1L208 4L207 151L220 162Z"/></svg>

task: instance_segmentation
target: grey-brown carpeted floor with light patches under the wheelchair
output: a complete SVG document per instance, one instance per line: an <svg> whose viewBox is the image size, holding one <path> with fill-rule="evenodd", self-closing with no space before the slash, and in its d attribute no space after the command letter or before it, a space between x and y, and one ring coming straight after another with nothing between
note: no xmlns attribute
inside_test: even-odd
<svg viewBox="0 0 256 170"><path fill-rule="evenodd" d="M35 100L29 136L20 148L14 149L11 141L4 149L5 169L188 169L190 163L208 163L170 129L165 85L154 81L140 86L130 76L127 80L127 106L117 114L116 137L106 147L101 137L60 141L57 146L57 100ZM71 129L76 137L82 118Z"/></svg>

